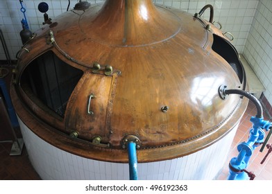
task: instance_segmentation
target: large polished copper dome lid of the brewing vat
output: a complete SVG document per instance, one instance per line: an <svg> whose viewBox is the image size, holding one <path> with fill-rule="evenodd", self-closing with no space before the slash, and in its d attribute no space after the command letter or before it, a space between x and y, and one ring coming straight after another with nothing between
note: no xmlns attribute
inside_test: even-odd
<svg viewBox="0 0 272 194"><path fill-rule="evenodd" d="M139 162L189 155L225 136L246 109L239 96L219 96L221 85L246 85L241 64L235 71L221 53L239 62L197 15L108 0L35 32L18 54L12 100L35 134L76 155L126 162L127 140L137 142Z"/></svg>

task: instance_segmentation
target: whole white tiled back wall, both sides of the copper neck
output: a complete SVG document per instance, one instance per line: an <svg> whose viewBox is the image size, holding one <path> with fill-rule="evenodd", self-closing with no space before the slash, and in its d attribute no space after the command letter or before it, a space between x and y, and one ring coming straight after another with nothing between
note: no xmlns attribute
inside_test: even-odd
<svg viewBox="0 0 272 194"><path fill-rule="evenodd" d="M42 0L24 0L24 7L26 8L26 16L28 25L34 32L42 26L43 14L37 10L37 5ZM239 53L243 52L246 38L250 30L250 25L255 15L258 0L226 0L226 1L203 1L203 0L153 0L155 3L163 4L164 6L171 6L180 10L185 10L192 14L199 12L206 4L214 6L214 20L221 22L224 32L229 31L235 36L232 42ZM46 0L49 4L49 11L47 14L52 19L62 12L67 10L67 0ZM70 8L78 1L71 0ZM103 0L89 0L90 3L99 3ZM13 60L19 48L22 46L19 32L22 30L21 20L23 18L20 12L21 5L18 0L1 0L0 1L0 28L4 33L6 44L8 44L9 52ZM205 11L203 15L208 19L209 10ZM9 35L13 33L12 35ZM0 45L0 60L6 60L3 53L3 48Z"/></svg>

